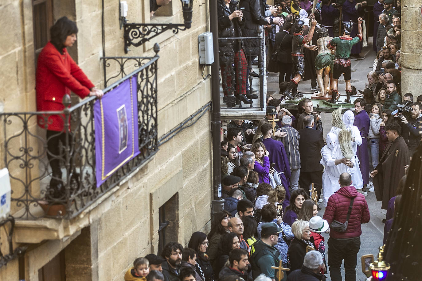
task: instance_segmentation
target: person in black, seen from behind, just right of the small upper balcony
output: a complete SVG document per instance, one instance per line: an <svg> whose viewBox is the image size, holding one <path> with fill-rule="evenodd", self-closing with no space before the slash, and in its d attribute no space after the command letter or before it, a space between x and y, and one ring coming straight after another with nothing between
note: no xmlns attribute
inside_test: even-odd
<svg viewBox="0 0 422 281"><path fill-rule="evenodd" d="M283 30L276 34L277 62L279 62L279 83L289 82L292 76L292 38L290 35L292 24L285 22ZM282 94L280 89L280 94Z"/></svg>

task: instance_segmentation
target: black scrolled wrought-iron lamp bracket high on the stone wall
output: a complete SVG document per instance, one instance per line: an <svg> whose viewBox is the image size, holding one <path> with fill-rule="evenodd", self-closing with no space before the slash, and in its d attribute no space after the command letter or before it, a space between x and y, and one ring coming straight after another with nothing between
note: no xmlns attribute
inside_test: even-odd
<svg viewBox="0 0 422 281"><path fill-rule="evenodd" d="M186 30L192 26L193 0L180 0L183 11L183 24L128 24L124 22L124 54L129 51L129 46L139 47L166 30L173 30L173 34L179 30Z"/></svg>

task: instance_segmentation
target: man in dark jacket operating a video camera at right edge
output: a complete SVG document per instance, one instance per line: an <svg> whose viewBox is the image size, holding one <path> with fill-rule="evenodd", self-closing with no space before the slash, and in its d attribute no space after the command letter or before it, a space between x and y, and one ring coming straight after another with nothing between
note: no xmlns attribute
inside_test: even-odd
<svg viewBox="0 0 422 281"><path fill-rule="evenodd" d="M401 115L401 136L403 136L403 139L409 148L410 155L413 155L421 141L422 104L420 102L414 102L410 107L412 108L412 113L409 120L407 120L404 115Z"/></svg>

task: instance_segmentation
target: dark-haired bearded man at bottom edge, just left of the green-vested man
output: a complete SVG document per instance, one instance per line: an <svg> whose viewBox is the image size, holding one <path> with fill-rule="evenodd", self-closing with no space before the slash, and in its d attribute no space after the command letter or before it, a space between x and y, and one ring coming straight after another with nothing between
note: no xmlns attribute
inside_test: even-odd
<svg viewBox="0 0 422 281"><path fill-rule="evenodd" d="M218 275L219 280L233 275L239 277L239 280L241 280L240 278L243 278L245 281L252 281L252 278L247 272L249 265L248 257L248 252L245 250L233 249L229 255L230 267L225 266L222 268Z"/></svg>

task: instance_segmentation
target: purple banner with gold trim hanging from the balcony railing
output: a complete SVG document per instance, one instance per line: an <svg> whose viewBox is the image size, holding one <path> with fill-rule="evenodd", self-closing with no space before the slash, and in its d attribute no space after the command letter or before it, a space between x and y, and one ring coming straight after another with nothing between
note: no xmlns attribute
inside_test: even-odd
<svg viewBox="0 0 422 281"><path fill-rule="evenodd" d="M139 154L136 86L133 76L94 104L97 187Z"/></svg>

